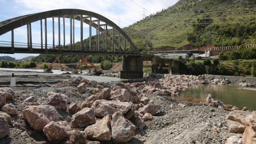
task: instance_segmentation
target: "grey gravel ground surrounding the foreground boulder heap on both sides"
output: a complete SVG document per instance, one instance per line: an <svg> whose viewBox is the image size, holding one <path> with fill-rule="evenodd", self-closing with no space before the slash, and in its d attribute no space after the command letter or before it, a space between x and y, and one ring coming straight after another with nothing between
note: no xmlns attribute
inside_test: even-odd
<svg viewBox="0 0 256 144"><path fill-rule="evenodd" d="M0 87L10 86L10 76L4 76L5 74L10 75L10 72L0 71ZM80 106L82 101L89 97L89 95L79 94L76 87L50 87L64 80L73 80L74 78L69 75L40 72L19 72L15 75L26 75L17 77L18 81L14 88L17 98L32 94L40 104L47 99L48 92L57 92L65 94L71 102ZM225 116L229 113L228 111L179 101L168 96L147 95L147 97L153 100L154 104L161 105L162 109L154 116L153 120L145 122L143 130L136 131L136 135L128 142L129 144L224 144L229 136L239 135L227 132ZM0 139L1 144L49 143L43 133L35 132L23 118L22 110L27 106L25 102L14 99L8 100L7 103L14 104L19 114L11 116L10 134ZM179 103L186 106L181 107L178 105ZM58 113L60 116L56 121L65 120L69 124L71 123L72 115L68 111L58 111ZM67 144L68 141L62 143Z"/></svg>

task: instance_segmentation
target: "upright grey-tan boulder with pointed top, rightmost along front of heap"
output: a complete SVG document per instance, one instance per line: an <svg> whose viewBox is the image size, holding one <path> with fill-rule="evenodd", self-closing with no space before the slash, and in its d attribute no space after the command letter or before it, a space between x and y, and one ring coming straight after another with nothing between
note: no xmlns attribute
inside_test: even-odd
<svg viewBox="0 0 256 144"><path fill-rule="evenodd" d="M111 121L112 140L114 143L125 143L131 140L135 134L136 126L124 118L121 112L116 112Z"/></svg>

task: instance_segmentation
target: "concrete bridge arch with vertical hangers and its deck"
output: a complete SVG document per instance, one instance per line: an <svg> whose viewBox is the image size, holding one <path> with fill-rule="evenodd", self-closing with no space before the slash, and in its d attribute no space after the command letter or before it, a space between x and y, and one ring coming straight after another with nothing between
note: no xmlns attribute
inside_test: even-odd
<svg viewBox="0 0 256 144"><path fill-rule="evenodd" d="M58 42L59 44L49 48L47 44L47 18L58 18ZM65 45L65 28L63 28L63 42L64 45L60 45L60 18L70 19L70 47ZM80 47L74 47L74 20L80 21L80 35L81 44ZM31 23L40 21L41 24L41 44L34 45L32 43ZM43 31L42 21L45 22L45 42L43 43ZM73 31L72 31L73 21ZM53 19L54 23L54 19ZM83 44L83 24L89 25L89 47L84 47ZM27 46L18 47L15 46L13 40L13 31L15 28L19 28L27 25ZM63 26L65 24L63 23ZM64 26L65 27L65 26ZM96 29L96 47L92 47L92 27ZM104 27L104 28L103 28ZM108 29L111 27L111 29ZM54 29L54 27L53 27ZM139 50L127 36L127 34L118 27L114 22L106 17L86 10L81 9L56 9L40 13L34 13L24 16L19 16L6 21L0 22L0 36L11 31L11 42L2 42L0 44L0 53L48 53L48 54L94 54L94 55L140 55ZM72 35L73 32L73 35ZM103 44L100 47L100 33L103 35ZM116 34L117 33L117 34ZM53 32L54 34L54 32ZM73 38L72 38L73 37ZM104 39L105 38L105 39ZM73 41L72 41L73 39ZM121 42L122 41L122 42ZM127 44L128 43L128 46ZM73 44L73 45L72 45ZM112 45L111 45L112 44ZM63 48L64 47L64 48ZM67 49L68 48L68 49Z"/></svg>

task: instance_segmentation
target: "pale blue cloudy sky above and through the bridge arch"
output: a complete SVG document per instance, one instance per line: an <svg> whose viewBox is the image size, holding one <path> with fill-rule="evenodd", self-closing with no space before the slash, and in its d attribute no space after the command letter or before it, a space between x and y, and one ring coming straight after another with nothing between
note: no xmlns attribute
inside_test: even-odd
<svg viewBox="0 0 256 144"><path fill-rule="evenodd" d="M0 0L0 22L22 15L54 9L82 9L103 15L113 21L117 26L123 28L136 23L145 16L154 14L162 9L167 9L177 2L178 0ZM48 27L52 25L51 23L52 20L47 19ZM65 28L67 24L69 24L69 21L65 20ZM54 25L56 25L54 26L56 27L54 34L57 36L57 19L54 19ZM48 27L47 31L51 29L52 26L50 28ZM80 24L75 22L75 27L78 29ZM88 25L83 26L84 29L86 29L86 27L88 27ZM49 39L52 39L52 33L47 32ZM84 30L84 33L84 38L87 38L88 30ZM65 33L65 35L68 34L68 32ZM32 43L40 43L39 22L32 23L32 38ZM0 41L10 42L10 32L1 35ZM55 38L55 41L57 41L57 38ZM69 42L69 38L65 38L65 41L66 43ZM80 37L75 36L75 42L77 41L80 41ZM27 42L26 26L14 30L14 42ZM55 42L55 45L57 45L57 43L58 42ZM38 54L0 54L0 56L11 56L16 59L36 55Z"/></svg>

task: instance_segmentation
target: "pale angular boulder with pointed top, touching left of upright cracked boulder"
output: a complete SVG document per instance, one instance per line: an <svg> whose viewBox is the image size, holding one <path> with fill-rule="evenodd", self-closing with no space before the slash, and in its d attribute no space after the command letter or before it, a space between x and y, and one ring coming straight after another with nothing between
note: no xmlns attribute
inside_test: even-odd
<svg viewBox="0 0 256 144"><path fill-rule="evenodd" d="M85 128L84 133L91 140L109 141L111 140L110 122L111 116L107 115L95 124Z"/></svg>

